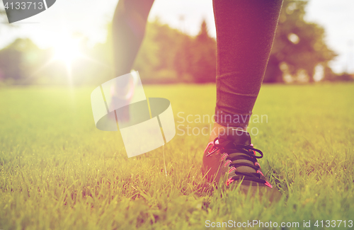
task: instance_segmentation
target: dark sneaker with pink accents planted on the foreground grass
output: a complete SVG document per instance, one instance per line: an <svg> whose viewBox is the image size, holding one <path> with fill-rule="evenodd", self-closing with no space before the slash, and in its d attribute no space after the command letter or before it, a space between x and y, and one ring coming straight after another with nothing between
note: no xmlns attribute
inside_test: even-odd
<svg viewBox="0 0 354 230"><path fill-rule="evenodd" d="M261 156L257 156L257 153ZM271 195L270 200L274 200L275 196L278 199L280 192L270 185L257 161L262 157L262 151L253 148L248 132L229 127L207 145L202 160L202 173L207 180L216 183L227 174L226 185L239 182L244 192L251 189L255 193L259 188L260 195L267 192Z"/></svg>

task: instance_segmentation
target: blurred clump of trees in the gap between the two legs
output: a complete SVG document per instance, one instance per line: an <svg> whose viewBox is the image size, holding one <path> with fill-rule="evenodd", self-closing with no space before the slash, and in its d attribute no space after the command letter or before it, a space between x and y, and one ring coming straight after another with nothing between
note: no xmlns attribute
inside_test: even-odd
<svg viewBox="0 0 354 230"><path fill-rule="evenodd" d="M215 82L216 42L205 21L194 38L164 25L148 23L134 69L145 83Z"/></svg>

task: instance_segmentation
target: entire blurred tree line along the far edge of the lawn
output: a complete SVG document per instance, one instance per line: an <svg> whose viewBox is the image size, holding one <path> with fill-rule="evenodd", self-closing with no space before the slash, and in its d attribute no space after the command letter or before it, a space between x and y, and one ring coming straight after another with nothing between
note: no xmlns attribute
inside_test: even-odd
<svg viewBox="0 0 354 230"><path fill-rule="evenodd" d="M316 70L324 81L352 81L349 74L334 74L329 62L336 57L324 40L325 31L304 20L307 1L284 2L265 83L313 82ZM89 47L84 40L70 69L50 62L53 50L40 50L31 40L19 38L0 50L3 84L100 84L113 77L112 31L103 44ZM212 83L216 75L216 40L202 21L196 36L170 28L158 19L149 22L133 69L145 84ZM67 77L66 77L67 76ZM68 80L69 78L69 80Z"/></svg>

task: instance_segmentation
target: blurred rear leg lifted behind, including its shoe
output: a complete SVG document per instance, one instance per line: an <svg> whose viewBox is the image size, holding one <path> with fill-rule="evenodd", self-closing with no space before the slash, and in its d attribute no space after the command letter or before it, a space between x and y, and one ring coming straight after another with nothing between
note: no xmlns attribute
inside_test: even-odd
<svg viewBox="0 0 354 230"><path fill-rule="evenodd" d="M144 38L147 17L154 0L119 0L113 16L113 55L115 77L129 74L135 57ZM134 94L135 80L120 79L119 84L111 88L111 103L128 104ZM133 92L133 93L132 93ZM112 116L112 119L115 117ZM129 121L129 108L125 107L117 113L117 119Z"/></svg>

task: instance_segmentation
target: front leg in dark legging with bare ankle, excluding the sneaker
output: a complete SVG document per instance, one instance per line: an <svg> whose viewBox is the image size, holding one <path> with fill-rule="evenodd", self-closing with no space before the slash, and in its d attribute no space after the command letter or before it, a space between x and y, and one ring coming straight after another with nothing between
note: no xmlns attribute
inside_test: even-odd
<svg viewBox="0 0 354 230"><path fill-rule="evenodd" d="M214 0L217 28L215 129L246 129L267 67L282 0Z"/></svg>

